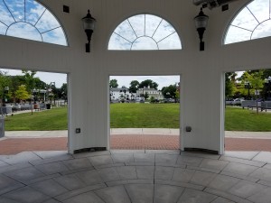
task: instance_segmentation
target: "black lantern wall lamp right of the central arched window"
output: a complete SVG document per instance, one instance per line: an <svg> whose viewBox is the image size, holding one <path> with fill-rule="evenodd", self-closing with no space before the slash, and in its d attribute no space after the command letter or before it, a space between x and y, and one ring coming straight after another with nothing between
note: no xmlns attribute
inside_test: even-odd
<svg viewBox="0 0 271 203"><path fill-rule="evenodd" d="M203 14L202 12L202 7L201 7L201 12L198 14L196 17L194 17L194 22L196 25L196 29L199 33L200 37L200 51L204 51L204 42L202 42L203 39L203 33L206 30L207 24L208 24L209 16L206 14Z"/></svg>

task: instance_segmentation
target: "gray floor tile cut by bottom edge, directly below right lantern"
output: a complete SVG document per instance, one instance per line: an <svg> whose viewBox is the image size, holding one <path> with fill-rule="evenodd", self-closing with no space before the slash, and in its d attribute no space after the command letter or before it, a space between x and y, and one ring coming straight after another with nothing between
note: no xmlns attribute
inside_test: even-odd
<svg viewBox="0 0 271 203"><path fill-rule="evenodd" d="M195 189L185 189L178 203L210 203L215 198L217 198L217 196L206 192Z"/></svg>

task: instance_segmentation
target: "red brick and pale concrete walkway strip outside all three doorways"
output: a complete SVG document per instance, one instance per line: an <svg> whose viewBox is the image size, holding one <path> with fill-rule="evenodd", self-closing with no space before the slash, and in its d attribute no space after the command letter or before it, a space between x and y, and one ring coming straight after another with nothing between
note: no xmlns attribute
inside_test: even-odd
<svg viewBox="0 0 271 203"><path fill-rule="evenodd" d="M179 129L111 129L111 149L178 150ZM226 151L271 152L271 132L225 132ZM10 131L0 138L0 154L68 150L68 131Z"/></svg>

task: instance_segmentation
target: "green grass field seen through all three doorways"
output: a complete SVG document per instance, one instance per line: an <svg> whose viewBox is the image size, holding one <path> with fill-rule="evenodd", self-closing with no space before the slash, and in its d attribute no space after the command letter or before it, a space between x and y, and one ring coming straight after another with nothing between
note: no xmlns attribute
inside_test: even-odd
<svg viewBox="0 0 271 203"><path fill-rule="evenodd" d="M111 128L179 128L179 104L112 104ZM271 114L226 108L225 130L271 131ZM185 119L185 118L183 118ZM67 130L67 107L5 117L7 131Z"/></svg>

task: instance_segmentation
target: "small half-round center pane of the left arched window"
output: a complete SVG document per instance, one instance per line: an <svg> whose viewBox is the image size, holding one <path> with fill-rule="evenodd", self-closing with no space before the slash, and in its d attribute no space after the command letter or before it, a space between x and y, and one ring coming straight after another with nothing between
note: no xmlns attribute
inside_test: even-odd
<svg viewBox="0 0 271 203"><path fill-rule="evenodd" d="M8 28L6 35L42 42L42 36L40 32L38 32L38 30L29 23L12 24Z"/></svg>

